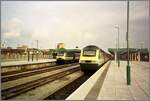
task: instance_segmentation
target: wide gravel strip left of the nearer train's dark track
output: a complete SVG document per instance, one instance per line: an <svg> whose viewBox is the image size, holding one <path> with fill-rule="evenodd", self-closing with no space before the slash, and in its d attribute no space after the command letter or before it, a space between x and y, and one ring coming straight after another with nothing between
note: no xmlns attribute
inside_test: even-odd
<svg viewBox="0 0 150 101"><path fill-rule="evenodd" d="M78 71L67 75L63 78L45 84L43 86L37 87L33 90L30 90L26 93L23 93L19 96L16 96L12 99L15 100L42 100L47 98L49 95L55 93L56 91L60 90L64 86L68 85L69 83L73 82L74 80L78 79L83 75L83 72ZM40 92L40 93L39 93Z"/></svg>

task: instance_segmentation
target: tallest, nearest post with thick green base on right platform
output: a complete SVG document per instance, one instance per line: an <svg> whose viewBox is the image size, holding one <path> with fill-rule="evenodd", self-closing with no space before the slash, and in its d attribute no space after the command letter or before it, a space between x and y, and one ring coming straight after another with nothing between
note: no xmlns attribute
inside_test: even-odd
<svg viewBox="0 0 150 101"><path fill-rule="evenodd" d="M131 84L131 75L130 75L130 64L129 64L129 0L127 0L127 36L126 36L126 39L127 39L127 85L130 85Z"/></svg>

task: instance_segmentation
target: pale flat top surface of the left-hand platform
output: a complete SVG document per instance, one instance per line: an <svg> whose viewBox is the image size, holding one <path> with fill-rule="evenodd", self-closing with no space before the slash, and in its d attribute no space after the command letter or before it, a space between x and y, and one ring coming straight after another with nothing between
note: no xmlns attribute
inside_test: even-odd
<svg viewBox="0 0 150 101"><path fill-rule="evenodd" d="M14 65L25 65L25 64L35 64L35 63L44 63L44 62L54 62L56 59L42 59L34 61L7 61L1 62L1 66L14 66Z"/></svg>

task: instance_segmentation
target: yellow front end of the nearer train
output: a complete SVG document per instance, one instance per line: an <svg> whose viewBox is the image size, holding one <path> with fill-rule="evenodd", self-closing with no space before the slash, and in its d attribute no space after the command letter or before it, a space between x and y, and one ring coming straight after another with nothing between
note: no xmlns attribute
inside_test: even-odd
<svg viewBox="0 0 150 101"><path fill-rule="evenodd" d="M95 71L100 68L103 61L102 53L95 46L88 46L81 51L79 63L82 71Z"/></svg>

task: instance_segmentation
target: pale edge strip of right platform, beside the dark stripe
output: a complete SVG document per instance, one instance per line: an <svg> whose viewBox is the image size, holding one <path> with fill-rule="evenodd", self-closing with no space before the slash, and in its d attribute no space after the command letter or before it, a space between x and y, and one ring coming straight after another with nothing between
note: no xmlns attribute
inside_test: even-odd
<svg viewBox="0 0 150 101"><path fill-rule="evenodd" d="M99 84L97 83L99 81L98 78L100 78L100 76L103 74L103 71L107 71L109 64L110 62L107 62L103 67L101 67L96 73L93 74L93 76L91 76L77 90L75 90L74 93L72 93L68 98L66 98L66 100L85 100L87 99L87 97L92 96L94 94L94 90L94 92L98 92L99 89L92 89L94 88L95 84ZM102 85L102 82L100 82L99 85ZM93 94L90 94L90 92L92 92ZM95 97L96 94L94 94L92 97Z"/></svg>

